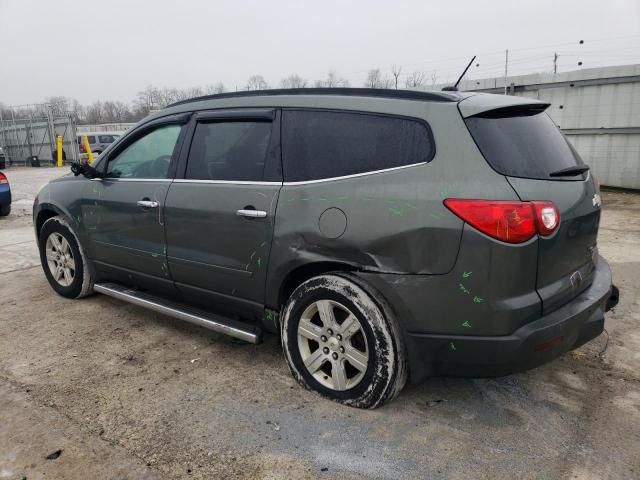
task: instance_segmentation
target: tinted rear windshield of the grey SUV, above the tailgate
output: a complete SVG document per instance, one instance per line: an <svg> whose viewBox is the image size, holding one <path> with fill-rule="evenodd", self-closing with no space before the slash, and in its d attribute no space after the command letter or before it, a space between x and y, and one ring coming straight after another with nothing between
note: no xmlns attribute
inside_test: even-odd
<svg viewBox="0 0 640 480"><path fill-rule="evenodd" d="M544 112L488 112L465 123L484 157L503 175L545 180L581 180L585 175L549 176L584 163Z"/></svg>

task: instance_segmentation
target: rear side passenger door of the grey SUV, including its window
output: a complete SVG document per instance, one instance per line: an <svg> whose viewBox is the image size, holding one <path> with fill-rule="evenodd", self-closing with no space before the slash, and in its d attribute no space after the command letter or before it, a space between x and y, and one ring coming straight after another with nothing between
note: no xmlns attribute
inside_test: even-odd
<svg viewBox="0 0 640 480"><path fill-rule="evenodd" d="M191 130L165 206L169 270L213 308L258 311L282 186L279 112L203 112Z"/></svg>

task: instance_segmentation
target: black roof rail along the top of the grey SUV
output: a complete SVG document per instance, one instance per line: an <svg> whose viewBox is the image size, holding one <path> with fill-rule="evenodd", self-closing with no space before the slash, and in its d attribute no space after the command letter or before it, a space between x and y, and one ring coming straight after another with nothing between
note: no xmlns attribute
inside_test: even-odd
<svg viewBox="0 0 640 480"><path fill-rule="evenodd" d="M273 90L251 90L243 92L218 93L190 98L167 105L166 108L203 100L239 97L270 97L277 95L344 95L350 97L399 98L422 100L425 102L458 102L464 97L456 92L420 92L417 90L390 90L383 88L279 88Z"/></svg>

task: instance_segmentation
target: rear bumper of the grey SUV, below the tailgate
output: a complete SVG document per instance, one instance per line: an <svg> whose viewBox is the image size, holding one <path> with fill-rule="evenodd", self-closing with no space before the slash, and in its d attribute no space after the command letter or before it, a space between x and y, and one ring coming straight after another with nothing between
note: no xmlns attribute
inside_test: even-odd
<svg viewBox="0 0 640 480"><path fill-rule="evenodd" d="M587 290L511 335L407 334L412 381L429 375L502 376L546 363L602 333L616 292L609 265L599 257Z"/></svg>

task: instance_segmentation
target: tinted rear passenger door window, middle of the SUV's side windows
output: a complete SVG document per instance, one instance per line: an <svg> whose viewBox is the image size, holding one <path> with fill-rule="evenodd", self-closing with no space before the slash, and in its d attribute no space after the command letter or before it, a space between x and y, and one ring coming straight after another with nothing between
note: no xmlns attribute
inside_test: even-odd
<svg viewBox="0 0 640 480"><path fill-rule="evenodd" d="M185 178L260 181L271 138L271 122L199 123Z"/></svg>

